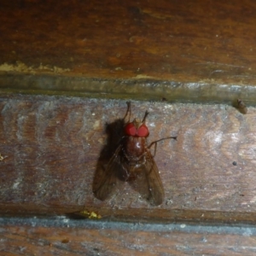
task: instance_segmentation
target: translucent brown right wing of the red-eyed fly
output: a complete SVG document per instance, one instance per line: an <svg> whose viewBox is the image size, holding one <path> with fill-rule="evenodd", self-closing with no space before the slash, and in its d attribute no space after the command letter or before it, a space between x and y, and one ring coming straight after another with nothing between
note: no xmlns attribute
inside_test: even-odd
<svg viewBox="0 0 256 256"><path fill-rule="evenodd" d="M165 191L154 158L148 149L146 161L141 165L133 166L130 172L136 174L136 177L131 179L131 186L143 195L151 205L160 205L164 200Z"/></svg>

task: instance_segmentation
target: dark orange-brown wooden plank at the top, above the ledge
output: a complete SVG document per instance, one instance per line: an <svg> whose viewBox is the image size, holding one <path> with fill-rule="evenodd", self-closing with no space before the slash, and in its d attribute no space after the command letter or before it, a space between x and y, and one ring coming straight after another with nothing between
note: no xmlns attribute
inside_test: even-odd
<svg viewBox="0 0 256 256"><path fill-rule="evenodd" d="M2 73L255 85L252 0L3 1Z"/></svg>

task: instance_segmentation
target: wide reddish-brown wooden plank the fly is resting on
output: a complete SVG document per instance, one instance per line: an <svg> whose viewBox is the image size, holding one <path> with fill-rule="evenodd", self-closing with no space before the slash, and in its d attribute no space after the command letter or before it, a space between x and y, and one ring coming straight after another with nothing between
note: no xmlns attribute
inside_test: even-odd
<svg viewBox="0 0 256 256"><path fill-rule="evenodd" d="M177 136L158 143L154 157L166 192L160 207L150 206L127 183L107 201L92 193L102 148L110 156L117 143L124 101L2 96L0 211L85 209L108 219L255 223L254 108L242 114L213 104L132 101L131 106L135 117L149 111L148 143Z"/></svg>

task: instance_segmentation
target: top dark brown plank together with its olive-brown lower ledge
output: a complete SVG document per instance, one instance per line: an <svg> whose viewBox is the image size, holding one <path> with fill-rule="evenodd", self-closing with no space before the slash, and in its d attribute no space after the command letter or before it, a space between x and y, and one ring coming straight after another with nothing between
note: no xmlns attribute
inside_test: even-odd
<svg viewBox="0 0 256 256"><path fill-rule="evenodd" d="M3 1L0 93L255 107L256 5Z"/></svg>

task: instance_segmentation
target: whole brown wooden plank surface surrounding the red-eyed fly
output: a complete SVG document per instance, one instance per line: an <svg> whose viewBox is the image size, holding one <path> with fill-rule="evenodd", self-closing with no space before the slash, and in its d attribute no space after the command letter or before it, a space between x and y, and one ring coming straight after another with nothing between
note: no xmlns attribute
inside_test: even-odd
<svg viewBox="0 0 256 256"><path fill-rule="evenodd" d="M0 253L254 255L245 224L256 222L255 13L253 0L2 1ZM139 117L150 112L148 142L177 136L157 147L160 207L128 184L108 201L92 193L106 124L117 127L124 99ZM83 210L100 224L73 224ZM70 218L49 224L60 214Z"/></svg>

